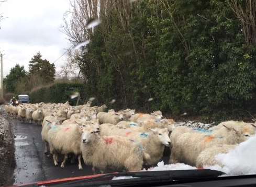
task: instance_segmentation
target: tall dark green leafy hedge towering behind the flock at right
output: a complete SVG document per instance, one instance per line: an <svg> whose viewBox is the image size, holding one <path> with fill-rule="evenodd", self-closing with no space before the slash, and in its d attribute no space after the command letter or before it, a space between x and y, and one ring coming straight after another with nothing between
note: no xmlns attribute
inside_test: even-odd
<svg viewBox="0 0 256 187"><path fill-rule="evenodd" d="M109 9L77 59L87 95L176 116L255 113L256 45L246 42L229 2L140 0L127 27L125 10Z"/></svg>

